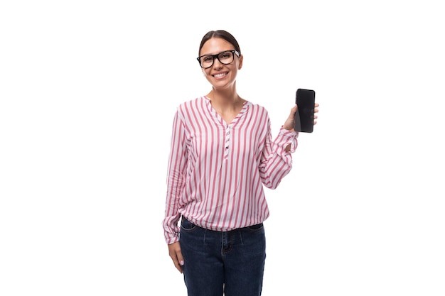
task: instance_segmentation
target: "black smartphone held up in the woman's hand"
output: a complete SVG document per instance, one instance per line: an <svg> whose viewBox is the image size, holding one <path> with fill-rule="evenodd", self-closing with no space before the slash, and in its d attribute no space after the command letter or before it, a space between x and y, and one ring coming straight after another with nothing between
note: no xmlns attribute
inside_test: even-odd
<svg viewBox="0 0 445 296"><path fill-rule="evenodd" d="M313 89L297 89L295 103L298 110L295 112L294 131L312 133L313 116L315 114L315 91Z"/></svg>

